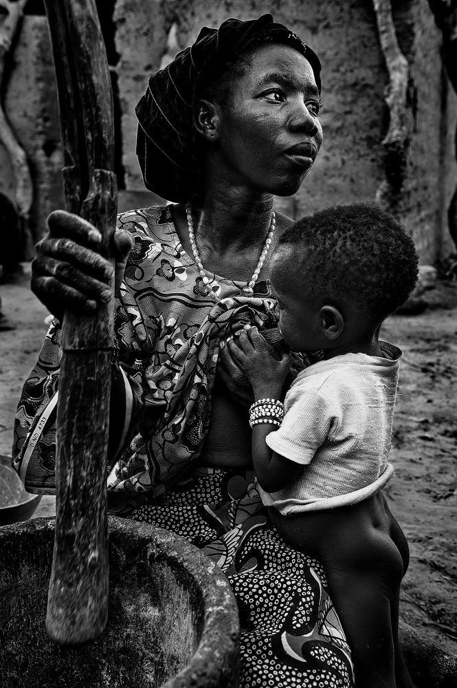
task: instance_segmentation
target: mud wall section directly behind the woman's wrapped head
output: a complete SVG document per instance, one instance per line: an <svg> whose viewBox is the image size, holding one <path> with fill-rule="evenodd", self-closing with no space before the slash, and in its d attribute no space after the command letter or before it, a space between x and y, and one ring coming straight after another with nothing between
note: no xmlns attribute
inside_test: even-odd
<svg viewBox="0 0 457 688"><path fill-rule="evenodd" d="M138 12L131 21L133 4ZM302 215L333 202L370 201L383 178L383 60L377 45L370 2L260 0L208 2L194 0L161 3L118 0L116 47L122 55L120 93L124 116L126 187L141 189L135 150L133 109L142 96L148 74L157 69L166 50L167 33L178 23L180 47L192 42L202 25L219 25L227 17L252 19L271 10L318 52L323 66L322 126L324 143L315 166L296 195L296 213ZM130 19L129 19L130 17ZM121 22L119 24L119 22ZM149 47L148 25L155 24L155 45ZM145 45L148 45L145 52ZM357 50L354 50L357 45ZM145 60L147 54L147 61Z"/></svg>

